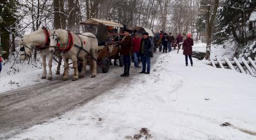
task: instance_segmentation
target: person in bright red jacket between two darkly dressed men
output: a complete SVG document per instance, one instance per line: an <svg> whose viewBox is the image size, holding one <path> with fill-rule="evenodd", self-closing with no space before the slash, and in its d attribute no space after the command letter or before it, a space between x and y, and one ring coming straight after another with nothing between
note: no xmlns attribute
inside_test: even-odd
<svg viewBox="0 0 256 140"><path fill-rule="evenodd" d="M135 68L140 68L138 60L139 60L139 53L140 53L141 38L138 32L134 34L134 38L132 38L132 42L133 42L134 66Z"/></svg>

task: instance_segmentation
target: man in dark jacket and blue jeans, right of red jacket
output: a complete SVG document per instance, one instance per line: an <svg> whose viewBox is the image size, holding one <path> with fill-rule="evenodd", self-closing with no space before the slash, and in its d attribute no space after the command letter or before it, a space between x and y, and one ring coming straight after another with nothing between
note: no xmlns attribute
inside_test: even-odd
<svg viewBox="0 0 256 140"><path fill-rule="evenodd" d="M148 38L148 32L145 32L140 45L140 56L142 59L142 71L140 73L150 74L150 57L152 57L153 49L154 43L150 38Z"/></svg>

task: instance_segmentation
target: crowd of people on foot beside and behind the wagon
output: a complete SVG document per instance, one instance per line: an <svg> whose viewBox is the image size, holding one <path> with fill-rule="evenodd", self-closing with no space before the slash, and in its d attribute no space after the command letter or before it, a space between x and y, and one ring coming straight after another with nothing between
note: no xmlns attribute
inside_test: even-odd
<svg viewBox="0 0 256 140"><path fill-rule="evenodd" d="M120 54L124 56L124 73L121 76L129 76L130 67L131 67L131 55L134 57L134 67L140 68L139 59L142 61L142 71L140 73L150 74L150 58L153 56L155 43L153 39L149 38L148 32L142 34L140 38L138 32L134 34L134 37L130 34L129 30L124 30L124 38L122 41L119 41L118 44L121 46ZM170 32L169 35L164 33L163 36L158 36L156 34L155 38L162 39L163 42L163 53L172 51L173 42L178 46L178 51L182 46L184 50L183 54L185 55L186 66L188 66L188 58L190 60L191 66L193 66L192 60L192 46L194 45L193 39L191 38L191 33L187 35L178 34L175 39ZM139 57L140 56L140 57Z"/></svg>

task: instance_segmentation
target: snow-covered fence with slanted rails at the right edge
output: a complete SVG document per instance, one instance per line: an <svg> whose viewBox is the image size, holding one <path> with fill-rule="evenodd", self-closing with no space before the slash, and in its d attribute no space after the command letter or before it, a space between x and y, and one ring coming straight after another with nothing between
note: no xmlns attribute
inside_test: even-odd
<svg viewBox="0 0 256 140"><path fill-rule="evenodd" d="M248 57L248 60L245 60L244 58L237 60L236 57L234 57L234 60L228 60L227 57L225 57L224 60L220 60L217 57L216 60L211 59L209 61L203 62L212 67L220 67L221 69L225 69L226 67L232 69L233 71L237 71L234 67L237 66L240 70L240 73L244 74L246 74L244 71L244 68L246 68L252 76L256 76L256 74L253 72L253 69L256 71L256 60L252 60L250 57Z"/></svg>

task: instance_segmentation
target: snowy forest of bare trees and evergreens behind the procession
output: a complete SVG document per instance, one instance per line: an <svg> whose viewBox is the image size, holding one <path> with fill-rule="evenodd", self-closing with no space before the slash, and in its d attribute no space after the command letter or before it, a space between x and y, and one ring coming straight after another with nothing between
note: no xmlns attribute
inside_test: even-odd
<svg viewBox="0 0 256 140"><path fill-rule="evenodd" d="M127 28L191 32L196 41L211 44L236 41L239 55L255 39L256 1L251 0L3 0L0 2L1 45L4 59L17 57L19 39L40 27L83 32L89 18L111 20ZM35 50L34 57L36 58ZM209 56L205 56L209 58Z"/></svg>

